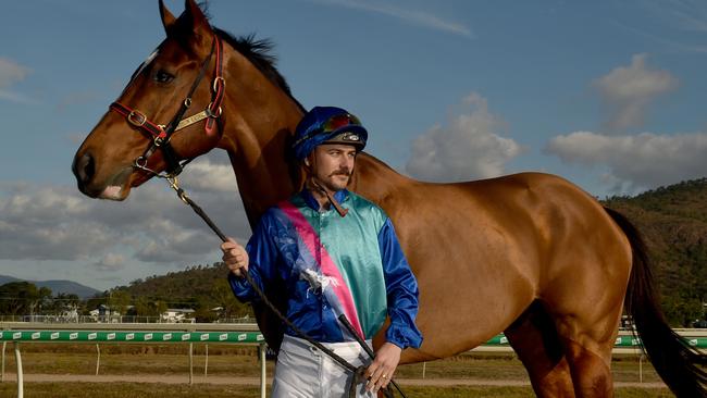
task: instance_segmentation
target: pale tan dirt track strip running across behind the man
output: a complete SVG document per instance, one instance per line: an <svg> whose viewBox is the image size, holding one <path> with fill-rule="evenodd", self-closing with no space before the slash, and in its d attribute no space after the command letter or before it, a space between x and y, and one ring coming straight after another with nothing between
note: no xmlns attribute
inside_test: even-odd
<svg viewBox="0 0 707 398"><path fill-rule="evenodd" d="M15 383L17 377L15 374L5 373L5 383ZM165 384L188 384L188 375L90 375L90 374L25 374L25 383L35 382L84 382L84 383L110 383L110 382L125 382L125 383L165 383ZM272 378L268 378L268 384ZM466 380L466 378L400 378L397 381L400 385L409 386L528 386L529 382L525 381L510 381L510 380ZM195 375L194 383L208 383L208 384L227 384L227 385L260 385L259 377L224 377L224 376L207 376ZM618 388L621 387L642 387L642 388L667 388L662 383L615 383Z"/></svg>

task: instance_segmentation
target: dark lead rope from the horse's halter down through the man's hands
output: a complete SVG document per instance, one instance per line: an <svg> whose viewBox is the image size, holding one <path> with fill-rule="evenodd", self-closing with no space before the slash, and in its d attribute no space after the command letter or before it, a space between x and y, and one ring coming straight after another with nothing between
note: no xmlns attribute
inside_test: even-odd
<svg viewBox="0 0 707 398"><path fill-rule="evenodd" d="M207 215L207 213L194 200L191 200L191 198L189 198L186 195L184 189L182 189L182 187L179 187L179 182L178 182L176 176L168 177L168 176L162 176L162 175L159 175L159 174L157 174L157 176L166 179L168 184L170 185L170 187L172 189L174 189L177 197L179 199L182 199L182 201L184 203L188 204L191 208L191 210L194 210L194 212L197 213L197 215L199 215L201 217L201 220L203 220L203 222L207 223L207 225L209 225L211 231L213 231L219 236L221 241L223 241L223 242L228 241L228 238L226 238L226 236L221 232L221 229L219 229L216 224L214 224L213 221L211 221L209 215ZM349 378L349 388L348 388L349 393L348 393L348 396L349 396L349 398L356 398L356 386L363 380L363 371L365 370L365 366L363 366L363 365L358 366L358 368L354 366L348 361L346 361L344 358L339 357L336 352L334 352L331 349L324 347L321 343L314 340L312 337L310 337L302 329L295 326L287 319L287 316L283 315L283 313L280 312L280 310L268 299L268 297L265 297L265 294L260 289L258 284L256 284L256 282L252 279L252 277L250 276L250 274L247 271L244 272L243 275L246 277L246 281L248 282L248 284L250 284L250 286L252 286L253 290L256 290L256 294L260 297L262 302L264 302L265 306L277 318L280 318L280 320L283 323L285 323L289 328L292 328L299 337L303 338L305 340L307 340L312 346L319 348L322 352L326 353L330 358L332 358L334 361L336 361L343 368L345 368L346 370L348 370L349 372L352 373L351 377ZM354 326L351 326L351 324L348 322L346 316L342 314L339 316L339 321L344 323L344 326L349 328L349 332L351 332L351 334L355 336L356 340L361 345L361 347L363 347L363 350L371 357L371 359L374 358L374 353L373 353L373 351L371 351L371 348L365 344L365 341L363 341L361 339L361 337L358 334L356 334L356 332L354 331ZM397 383L395 383L393 380L390 380L390 383L393 383L393 385L395 386L395 388L397 388L397 390L400 393L400 395L404 398L406 398L405 394L402 393L400 387L397 385ZM393 397L393 391L389 389L389 387L384 388L383 394L386 397Z"/></svg>

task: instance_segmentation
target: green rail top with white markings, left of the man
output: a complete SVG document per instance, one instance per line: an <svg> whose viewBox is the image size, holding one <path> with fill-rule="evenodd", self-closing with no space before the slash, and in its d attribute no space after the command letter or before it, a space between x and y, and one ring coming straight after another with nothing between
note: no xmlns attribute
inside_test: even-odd
<svg viewBox="0 0 707 398"><path fill-rule="evenodd" d="M258 344L264 338L259 332L0 331L0 341Z"/></svg>

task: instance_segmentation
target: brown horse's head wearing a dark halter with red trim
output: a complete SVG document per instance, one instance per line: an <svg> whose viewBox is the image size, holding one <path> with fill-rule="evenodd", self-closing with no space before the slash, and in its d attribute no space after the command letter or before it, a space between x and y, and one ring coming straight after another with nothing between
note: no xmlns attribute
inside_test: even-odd
<svg viewBox="0 0 707 398"><path fill-rule="evenodd" d="M222 139L221 41L193 0L176 18L160 0L160 14L166 38L74 157L78 189L89 197L123 200L131 188L159 173L175 173L178 161L206 153ZM193 124L177 127L179 114L194 109L203 110L202 120L193 115L187 117Z"/></svg>

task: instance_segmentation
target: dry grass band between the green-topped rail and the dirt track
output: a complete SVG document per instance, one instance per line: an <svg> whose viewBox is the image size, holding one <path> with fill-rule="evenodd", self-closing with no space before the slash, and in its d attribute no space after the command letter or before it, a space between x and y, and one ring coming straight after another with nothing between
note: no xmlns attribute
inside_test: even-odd
<svg viewBox="0 0 707 398"><path fill-rule="evenodd" d="M104 345L101 346L100 374L188 374L188 348L184 346ZM256 348L209 345L208 374L259 376ZM14 372L14 356L7 352L7 372ZM51 360L48 360L48 356ZM23 345L23 368L26 373L95 374L97 351L91 345ZM194 372L203 374L207 362L206 346L195 345ZM635 356L615 357L611 365L616 382L638 382L640 363ZM268 361L272 375L273 362ZM464 353L433 362L398 368L399 378L481 378L521 380L528 374L512 355ZM650 363L643 362L643 381L659 382Z"/></svg>

